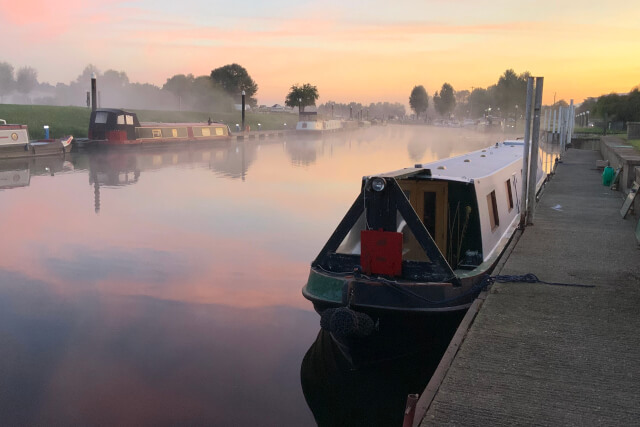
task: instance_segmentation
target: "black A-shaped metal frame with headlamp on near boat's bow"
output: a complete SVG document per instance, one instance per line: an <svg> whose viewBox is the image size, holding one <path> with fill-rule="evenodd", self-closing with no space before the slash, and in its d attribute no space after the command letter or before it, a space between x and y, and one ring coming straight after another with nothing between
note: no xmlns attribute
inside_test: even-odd
<svg viewBox="0 0 640 427"><path fill-rule="evenodd" d="M420 172L424 171L414 170L413 173L404 171L402 176L403 178L411 175L418 177ZM426 172L426 176L429 176L429 171ZM371 182L374 179L384 180L385 185L382 191L375 191L371 187ZM402 279L459 284L459 279L438 249L422 221L418 218L416 211L407 200L396 178L388 175L363 179L360 194L324 245L320 254L311 263L312 267L320 267L336 273L346 273L353 271L360 265L359 255L340 254L336 253L336 250L365 209L368 229L371 230L396 231L396 210L400 212L429 258L430 262L403 261Z"/></svg>

